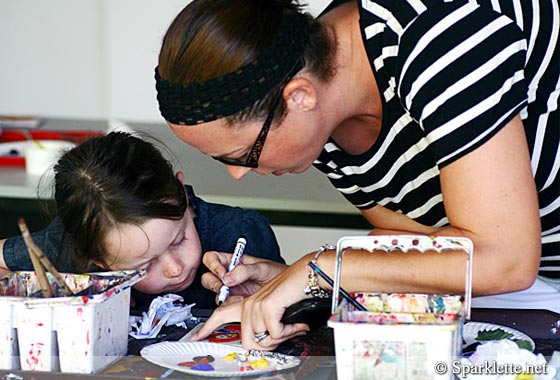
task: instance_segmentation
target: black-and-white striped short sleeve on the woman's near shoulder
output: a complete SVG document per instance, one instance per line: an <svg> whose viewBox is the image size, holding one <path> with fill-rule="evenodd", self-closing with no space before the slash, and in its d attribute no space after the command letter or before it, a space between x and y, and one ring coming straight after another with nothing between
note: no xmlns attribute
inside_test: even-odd
<svg viewBox="0 0 560 380"><path fill-rule="evenodd" d="M526 106L526 49L513 20L475 2L442 3L408 25L399 44L399 97L440 167Z"/></svg>

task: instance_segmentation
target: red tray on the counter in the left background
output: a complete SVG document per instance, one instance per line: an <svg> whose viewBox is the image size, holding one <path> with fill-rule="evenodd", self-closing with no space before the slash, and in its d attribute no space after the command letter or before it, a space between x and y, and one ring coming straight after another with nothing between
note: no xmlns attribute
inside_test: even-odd
<svg viewBox="0 0 560 380"><path fill-rule="evenodd" d="M54 130L31 130L27 129L22 132L20 129L2 129L0 133L0 143L10 143L18 141L26 141L30 138L34 140L66 140L71 141L75 144L80 144L85 140L102 136L105 132L103 131L84 131L84 130L64 130L64 131L54 131ZM0 167L1 166L12 166L12 167L25 167L25 157L22 155L6 155L0 156Z"/></svg>

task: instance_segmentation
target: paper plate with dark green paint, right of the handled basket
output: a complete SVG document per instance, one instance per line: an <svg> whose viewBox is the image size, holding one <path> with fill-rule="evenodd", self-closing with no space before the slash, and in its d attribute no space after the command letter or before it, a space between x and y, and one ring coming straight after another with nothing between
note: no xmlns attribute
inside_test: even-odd
<svg viewBox="0 0 560 380"><path fill-rule="evenodd" d="M463 326L463 349L474 343L490 340L510 339L522 348L535 350L535 342L527 334L502 325L483 322L468 322Z"/></svg>

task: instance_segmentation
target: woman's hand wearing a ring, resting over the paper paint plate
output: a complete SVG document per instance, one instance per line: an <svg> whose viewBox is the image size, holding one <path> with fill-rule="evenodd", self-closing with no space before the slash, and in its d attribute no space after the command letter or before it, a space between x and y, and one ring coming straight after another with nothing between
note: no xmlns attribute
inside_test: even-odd
<svg viewBox="0 0 560 380"><path fill-rule="evenodd" d="M216 309L193 340L206 338L227 322L241 322L242 343L246 349L273 350L285 340L305 335L309 330L306 324L284 325L280 319L289 306L306 297L303 289L307 285L306 268L310 259L310 255L304 256L241 302ZM255 341L255 334L263 332L268 335Z"/></svg>

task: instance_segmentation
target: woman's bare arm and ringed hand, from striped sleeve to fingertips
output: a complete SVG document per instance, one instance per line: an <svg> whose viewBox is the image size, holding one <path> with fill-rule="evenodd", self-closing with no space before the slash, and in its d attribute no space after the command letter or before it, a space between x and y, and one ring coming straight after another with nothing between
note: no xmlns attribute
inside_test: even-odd
<svg viewBox="0 0 560 380"><path fill-rule="evenodd" d="M386 210L366 216L375 234L416 233L463 236L474 243L473 292L496 294L524 289L536 277L540 259L540 219L523 126L518 117L477 150L442 169L442 191L450 227L430 228ZM383 218L381 218L383 216ZM242 323L246 348L273 349L304 333L305 325L283 325L291 304L306 297L308 254L253 296L215 312L199 339L227 319ZM318 265L334 275L335 252L324 252ZM319 281L322 287L327 284ZM345 253L341 285L349 292L463 293L463 252L393 251ZM253 334L268 330L259 344Z"/></svg>

